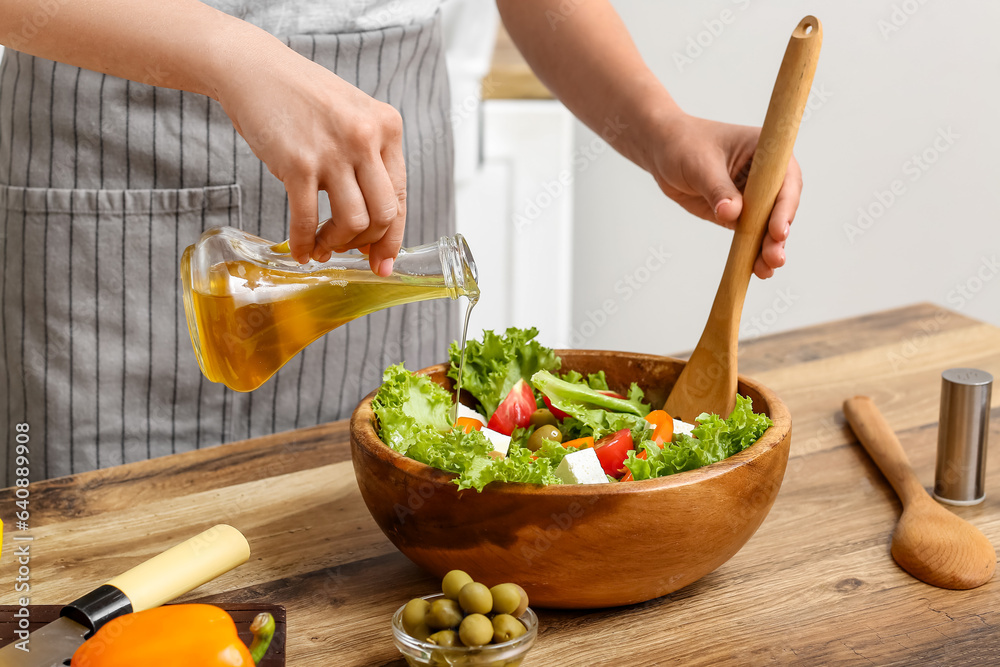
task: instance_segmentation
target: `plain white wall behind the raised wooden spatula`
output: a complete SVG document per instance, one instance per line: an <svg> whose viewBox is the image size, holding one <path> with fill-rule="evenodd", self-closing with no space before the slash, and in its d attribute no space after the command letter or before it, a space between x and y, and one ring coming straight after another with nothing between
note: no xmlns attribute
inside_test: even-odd
<svg viewBox="0 0 1000 667"><path fill-rule="evenodd" d="M819 96L796 145L805 190L788 263L754 278L744 337L933 301L1000 325L1000 4L970 0L663 2L614 0L647 62L687 111L759 125L788 36L806 14L823 22ZM893 7L905 23L892 25ZM678 68L675 53L730 11L718 36ZM944 152L939 132L957 136ZM594 135L579 128L578 150ZM907 161L936 162L912 180ZM936 156L934 155L936 153ZM718 285L730 233L663 196L651 178L605 151L577 174L573 326L577 347L675 353L694 347ZM858 208L896 179L905 192L853 239ZM878 212L878 206L875 206ZM650 248L670 253L640 268ZM656 262L651 261L655 268ZM641 289L631 295L624 277ZM616 283L619 289L616 291ZM969 283L967 299L956 291ZM608 302L608 303L605 303ZM611 306L616 312L604 313ZM781 312L783 311L783 312ZM676 313L676 314L675 314ZM757 318L759 326L753 324ZM606 319L607 323L601 325Z"/></svg>

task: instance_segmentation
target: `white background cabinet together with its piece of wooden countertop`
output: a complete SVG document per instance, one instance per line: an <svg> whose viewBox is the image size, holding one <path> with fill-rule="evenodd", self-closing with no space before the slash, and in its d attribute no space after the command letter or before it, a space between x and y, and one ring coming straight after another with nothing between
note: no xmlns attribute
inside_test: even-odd
<svg viewBox="0 0 1000 667"><path fill-rule="evenodd" d="M444 12L457 224L476 258L482 289L470 336L535 326L545 344L568 346L572 115L552 99L483 100L488 73L485 87L494 96L547 91L502 31L498 42L493 0L450 0Z"/></svg>

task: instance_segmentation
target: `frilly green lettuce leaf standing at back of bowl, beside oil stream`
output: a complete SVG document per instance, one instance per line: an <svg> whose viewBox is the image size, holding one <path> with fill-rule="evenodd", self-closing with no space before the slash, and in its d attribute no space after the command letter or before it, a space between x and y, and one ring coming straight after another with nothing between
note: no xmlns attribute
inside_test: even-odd
<svg viewBox="0 0 1000 667"><path fill-rule="evenodd" d="M518 380L528 380L539 370L556 370L561 365L552 349L534 340L538 329L511 327L502 336L484 331L481 341L465 345L465 369L462 388L479 401L487 417L496 412L500 401ZM462 350L458 342L448 348L451 367L448 377L458 380Z"/></svg>

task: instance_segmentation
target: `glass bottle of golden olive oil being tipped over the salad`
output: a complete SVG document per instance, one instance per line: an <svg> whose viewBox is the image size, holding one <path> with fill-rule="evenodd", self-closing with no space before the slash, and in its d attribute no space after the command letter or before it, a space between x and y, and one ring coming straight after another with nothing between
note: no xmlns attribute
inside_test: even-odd
<svg viewBox="0 0 1000 667"><path fill-rule="evenodd" d="M199 245L189 247L181 260L181 276L188 329L201 370L209 380L236 391L256 389L310 343L363 315L460 295L469 298L471 310L479 299L475 264L461 237L404 249L388 278L368 270L367 258L361 255L345 256L339 265L304 269L287 255L267 261L255 256L261 252L256 245L252 252L231 245L238 252L213 250L198 256ZM271 252L269 245L265 248L265 255Z"/></svg>

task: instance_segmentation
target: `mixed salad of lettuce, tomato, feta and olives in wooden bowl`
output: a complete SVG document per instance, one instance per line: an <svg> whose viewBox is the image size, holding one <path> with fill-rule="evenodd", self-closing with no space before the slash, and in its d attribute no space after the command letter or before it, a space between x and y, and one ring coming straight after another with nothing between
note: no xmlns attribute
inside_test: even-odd
<svg viewBox="0 0 1000 667"><path fill-rule="evenodd" d="M560 372L534 328L484 331L466 346L462 388L475 410L427 376L390 366L372 399L382 441L412 459L455 473L459 488L490 482L608 484L694 470L741 452L771 426L736 397L727 418L674 420L643 401L635 383L613 391L604 372ZM461 350L449 349L458 378Z"/></svg>

